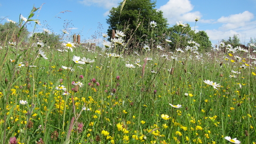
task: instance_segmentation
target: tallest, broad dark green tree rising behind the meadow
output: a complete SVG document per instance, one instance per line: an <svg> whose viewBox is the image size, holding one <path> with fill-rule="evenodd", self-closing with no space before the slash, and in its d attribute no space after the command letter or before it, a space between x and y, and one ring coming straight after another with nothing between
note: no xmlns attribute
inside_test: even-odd
<svg viewBox="0 0 256 144"><path fill-rule="evenodd" d="M123 9L122 8L122 4ZM155 3L150 0L126 0L113 7L108 15L107 30L111 37L112 30L123 30L127 39L133 36L133 42L154 41L157 36L162 36L167 30L167 20L163 17L163 12L155 9ZM150 22L155 21L157 26L153 29ZM110 38L109 38L110 39Z"/></svg>

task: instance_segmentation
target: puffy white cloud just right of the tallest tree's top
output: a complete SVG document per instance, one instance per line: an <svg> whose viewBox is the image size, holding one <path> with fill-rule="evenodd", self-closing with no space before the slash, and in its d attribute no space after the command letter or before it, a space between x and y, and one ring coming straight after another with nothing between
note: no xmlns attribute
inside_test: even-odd
<svg viewBox="0 0 256 144"><path fill-rule="evenodd" d="M199 11L191 12L193 9L189 0L169 0L159 8L170 25L174 25L176 21L193 22L196 17L202 17Z"/></svg>

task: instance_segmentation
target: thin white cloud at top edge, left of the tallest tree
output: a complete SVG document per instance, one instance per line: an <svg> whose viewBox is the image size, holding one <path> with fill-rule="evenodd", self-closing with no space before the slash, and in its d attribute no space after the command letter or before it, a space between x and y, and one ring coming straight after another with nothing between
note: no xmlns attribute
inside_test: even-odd
<svg viewBox="0 0 256 144"><path fill-rule="evenodd" d="M110 10L112 7L116 7L119 2L122 0L83 0L79 1L79 3L84 4L86 6L95 5L98 7L104 7L105 9Z"/></svg>

